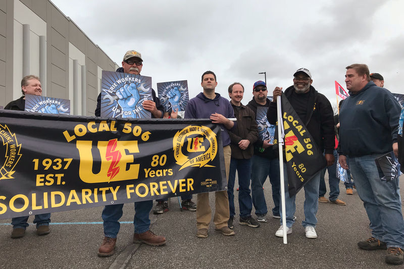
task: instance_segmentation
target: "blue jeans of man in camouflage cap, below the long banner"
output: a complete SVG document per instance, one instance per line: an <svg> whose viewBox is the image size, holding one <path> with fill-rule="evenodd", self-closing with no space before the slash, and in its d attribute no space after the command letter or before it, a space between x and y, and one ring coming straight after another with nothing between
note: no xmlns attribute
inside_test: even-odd
<svg viewBox="0 0 404 269"><path fill-rule="evenodd" d="M153 207L153 200L135 202L135 216L133 225L135 233L141 234L147 232L150 227L148 214ZM122 217L123 204L106 205L104 207L102 218L104 220L104 234L107 237L116 238L119 232L119 219Z"/></svg>

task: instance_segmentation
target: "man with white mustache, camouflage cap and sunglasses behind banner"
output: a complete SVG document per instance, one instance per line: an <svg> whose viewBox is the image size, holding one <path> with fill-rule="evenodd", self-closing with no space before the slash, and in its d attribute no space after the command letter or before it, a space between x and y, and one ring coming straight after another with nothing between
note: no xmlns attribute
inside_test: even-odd
<svg viewBox="0 0 404 269"><path fill-rule="evenodd" d="M143 60L141 54L135 50L128 50L125 53L122 61L122 67L118 68L116 72L129 73L140 75L143 67ZM159 98L156 97L156 92L152 89L152 100L145 100L142 102L143 108L151 112L152 118L163 117L163 106L160 104ZM130 96L128 96L130 98ZM95 109L95 116L99 117L101 111L101 94L97 98L97 107ZM151 246L161 246L166 244L164 236L158 236L149 230L150 219L149 213L153 207L153 200L135 202L135 217L133 225L135 232L133 235L134 243L145 243ZM117 241L120 224L119 219L122 217L123 204L106 205L104 207L102 218L104 221L104 234L102 245L98 248L98 256L111 256L114 254L114 249Z"/></svg>

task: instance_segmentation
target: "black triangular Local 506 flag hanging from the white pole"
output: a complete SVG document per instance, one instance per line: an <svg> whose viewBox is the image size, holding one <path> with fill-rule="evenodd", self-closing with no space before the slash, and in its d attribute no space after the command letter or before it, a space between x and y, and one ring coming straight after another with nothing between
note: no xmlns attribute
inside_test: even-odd
<svg viewBox="0 0 404 269"><path fill-rule="evenodd" d="M313 140L286 97L281 98L285 131L284 158L288 177L289 195L295 195L314 175L327 166L323 152ZM278 130L275 131L277 135ZM277 143L277 141L276 141Z"/></svg>

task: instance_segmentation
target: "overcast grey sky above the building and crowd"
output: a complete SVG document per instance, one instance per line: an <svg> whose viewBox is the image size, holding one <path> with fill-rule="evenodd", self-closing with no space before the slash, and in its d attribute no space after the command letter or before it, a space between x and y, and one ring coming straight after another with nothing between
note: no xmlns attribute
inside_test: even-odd
<svg viewBox="0 0 404 269"><path fill-rule="evenodd" d="M246 104L254 82L264 80L259 72L267 72L272 95L305 67L335 103L334 81L345 88L345 67L363 63L385 88L404 93L402 0L52 2L119 66L127 50L142 53L141 74L155 90L158 82L188 80L192 98L211 70L216 92L228 98L228 86L241 82Z"/></svg>

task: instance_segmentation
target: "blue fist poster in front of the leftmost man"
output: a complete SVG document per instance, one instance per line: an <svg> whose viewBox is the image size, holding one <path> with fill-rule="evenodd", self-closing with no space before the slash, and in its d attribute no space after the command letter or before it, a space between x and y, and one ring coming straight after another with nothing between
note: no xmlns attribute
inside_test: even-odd
<svg viewBox="0 0 404 269"><path fill-rule="evenodd" d="M70 115L70 100L25 94L25 111Z"/></svg>

